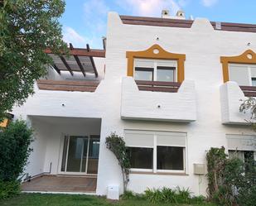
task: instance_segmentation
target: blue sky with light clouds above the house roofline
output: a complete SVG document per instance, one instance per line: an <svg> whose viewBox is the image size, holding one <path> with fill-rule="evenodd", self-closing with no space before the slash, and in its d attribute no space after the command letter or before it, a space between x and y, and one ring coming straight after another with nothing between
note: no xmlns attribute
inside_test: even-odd
<svg viewBox="0 0 256 206"><path fill-rule="evenodd" d="M255 0L66 0L60 18L63 38L75 47L102 48L109 11L123 15L160 17L162 9L171 14L182 9L186 18L206 17L215 22L256 24Z"/></svg>

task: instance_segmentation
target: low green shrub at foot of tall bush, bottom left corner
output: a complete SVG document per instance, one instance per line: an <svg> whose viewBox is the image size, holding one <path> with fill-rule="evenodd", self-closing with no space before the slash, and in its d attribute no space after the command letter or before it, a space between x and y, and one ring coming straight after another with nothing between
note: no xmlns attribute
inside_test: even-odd
<svg viewBox="0 0 256 206"><path fill-rule="evenodd" d="M0 199L8 199L20 193L20 182L0 180Z"/></svg>

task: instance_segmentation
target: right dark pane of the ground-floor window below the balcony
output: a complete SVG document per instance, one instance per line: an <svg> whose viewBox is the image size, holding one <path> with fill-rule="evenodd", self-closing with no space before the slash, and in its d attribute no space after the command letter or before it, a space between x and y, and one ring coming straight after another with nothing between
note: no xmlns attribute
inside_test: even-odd
<svg viewBox="0 0 256 206"><path fill-rule="evenodd" d="M157 146L157 170L184 170L183 148Z"/></svg>

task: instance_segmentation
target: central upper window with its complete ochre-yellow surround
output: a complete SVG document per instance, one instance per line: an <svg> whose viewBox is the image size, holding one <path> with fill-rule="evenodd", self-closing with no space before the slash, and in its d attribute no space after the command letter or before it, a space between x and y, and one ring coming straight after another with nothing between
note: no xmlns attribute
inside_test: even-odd
<svg viewBox="0 0 256 206"><path fill-rule="evenodd" d="M186 55L175 54L153 45L147 50L127 51L128 76L136 80L178 82L184 80Z"/></svg>

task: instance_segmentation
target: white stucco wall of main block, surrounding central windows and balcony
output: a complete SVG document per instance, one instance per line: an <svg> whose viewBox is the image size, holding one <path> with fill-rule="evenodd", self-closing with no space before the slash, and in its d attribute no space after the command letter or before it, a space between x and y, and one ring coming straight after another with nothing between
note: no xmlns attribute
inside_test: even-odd
<svg viewBox="0 0 256 206"><path fill-rule="evenodd" d="M157 37L159 41L157 41ZM225 126L221 123L220 85L223 84L221 55L239 55L244 50L256 50L254 33L215 31L206 19L196 19L191 28L123 25L117 13L109 13L105 80L109 84L111 103L102 122L102 142L109 132L123 135L123 129L144 129L187 132L188 176L131 175L128 189L142 192L147 187L189 187L194 194L205 194L205 177L193 175L193 163L205 163L205 153L211 146L227 146L225 134L251 134L249 127ZM196 84L196 122L149 122L121 120L119 117L121 79L127 73L126 51L146 50L153 44L178 54L186 54L185 79ZM141 99L142 101L142 99ZM98 194L106 194L108 184L121 181L114 156L100 148ZM202 179L202 180L200 180ZM122 182L120 182L122 188Z"/></svg>

